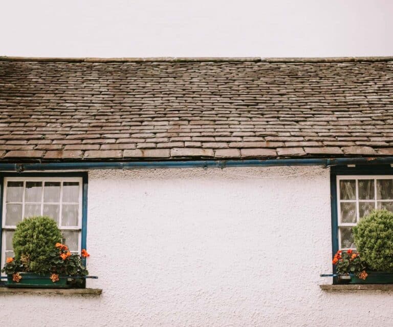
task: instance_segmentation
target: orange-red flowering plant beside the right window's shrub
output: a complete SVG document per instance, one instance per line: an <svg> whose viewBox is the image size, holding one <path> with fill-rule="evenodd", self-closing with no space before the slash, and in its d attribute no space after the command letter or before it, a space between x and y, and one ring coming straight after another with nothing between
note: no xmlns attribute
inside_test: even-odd
<svg viewBox="0 0 393 327"><path fill-rule="evenodd" d="M354 253L352 250L337 251L332 262L336 265L339 275L354 274L361 279L367 278L366 263L358 253Z"/></svg>

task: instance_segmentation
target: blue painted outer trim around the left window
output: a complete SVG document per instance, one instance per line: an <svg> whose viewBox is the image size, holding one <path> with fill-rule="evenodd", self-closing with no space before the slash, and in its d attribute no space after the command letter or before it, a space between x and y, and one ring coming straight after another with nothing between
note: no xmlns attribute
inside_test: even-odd
<svg viewBox="0 0 393 327"><path fill-rule="evenodd" d="M3 217L4 177L82 177L82 230L81 248L87 249L88 232L88 173L87 172L56 172L56 173L8 173L0 172L0 219ZM0 262L2 262L2 223L0 223ZM84 259L85 260L85 259ZM85 261L84 261L85 263ZM3 268L3 267L2 267Z"/></svg>

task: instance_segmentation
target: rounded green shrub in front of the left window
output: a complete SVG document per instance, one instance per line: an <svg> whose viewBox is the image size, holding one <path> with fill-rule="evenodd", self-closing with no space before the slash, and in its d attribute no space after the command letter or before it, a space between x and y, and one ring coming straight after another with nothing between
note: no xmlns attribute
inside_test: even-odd
<svg viewBox="0 0 393 327"><path fill-rule="evenodd" d="M15 260L27 272L44 274L51 268L49 254L61 242L61 232L50 217L31 217L19 222L12 239Z"/></svg>

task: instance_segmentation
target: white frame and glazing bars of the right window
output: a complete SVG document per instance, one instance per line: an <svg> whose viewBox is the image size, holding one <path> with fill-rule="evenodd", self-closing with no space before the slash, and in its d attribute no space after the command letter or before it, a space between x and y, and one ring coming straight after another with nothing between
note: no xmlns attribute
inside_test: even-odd
<svg viewBox="0 0 393 327"><path fill-rule="evenodd" d="M359 187L358 182L359 179L373 179L374 180L374 200L359 200ZM393 202L393 199L387 200L378 200L377 199L377 179L393 179L393 175L337 175L336 176L336 189L337 189L337 227L338 227L338 249L339 250L356 250L355 248L342 248L341 247L341 227L354 227L359 222L359 201L360 202L369 202L374 203L374 209L377 209L378 202ZM341 200L340 199L340 180L355 180L355 191L356 191L356 199L355 200ZM356 203L356 222L341 222L341 202L352 202Z"/></svg>

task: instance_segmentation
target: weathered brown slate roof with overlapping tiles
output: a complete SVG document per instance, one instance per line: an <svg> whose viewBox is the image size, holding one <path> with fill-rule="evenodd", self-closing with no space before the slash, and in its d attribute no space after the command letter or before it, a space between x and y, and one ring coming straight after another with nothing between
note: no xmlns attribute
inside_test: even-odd
<svg viewBox="0 0 393 327"><path fill-rule="evenodd" d="M0 160L393 155L393 58L0 58Z"/></svg>

